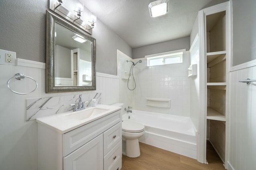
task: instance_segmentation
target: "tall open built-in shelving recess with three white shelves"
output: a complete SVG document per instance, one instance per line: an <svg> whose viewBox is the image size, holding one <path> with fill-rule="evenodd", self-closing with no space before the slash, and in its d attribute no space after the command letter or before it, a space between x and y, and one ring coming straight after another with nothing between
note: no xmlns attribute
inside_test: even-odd
<svg viewBox="0 0 256 170"><path fill-rule="evenodd" d="M226 10L206 15L207 138L225 163L226 143Z"/></svg>

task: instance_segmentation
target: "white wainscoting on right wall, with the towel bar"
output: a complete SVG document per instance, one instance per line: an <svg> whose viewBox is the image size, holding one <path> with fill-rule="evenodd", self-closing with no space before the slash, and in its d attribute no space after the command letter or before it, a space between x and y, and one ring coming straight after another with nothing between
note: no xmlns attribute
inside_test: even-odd
<svg viewBox="0 0 256 170"><path fill-rule="evenodd" d="M256 63L255 61L252 61ZM250 63L252 63L250 62ZM250 64L249 63L249 64ZM256 66L236 66L230 73L230 152L228 170L256 170Z"/></svg>

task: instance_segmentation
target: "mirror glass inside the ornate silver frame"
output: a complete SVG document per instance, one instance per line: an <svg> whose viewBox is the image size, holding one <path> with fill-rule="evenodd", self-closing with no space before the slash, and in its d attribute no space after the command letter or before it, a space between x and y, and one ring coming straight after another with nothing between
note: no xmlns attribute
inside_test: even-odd
<svg viewBox="0 0 256 170"><path fill-rule="evenodd" d="M55 86L92 86L92 41L55 23Z"/></svg>

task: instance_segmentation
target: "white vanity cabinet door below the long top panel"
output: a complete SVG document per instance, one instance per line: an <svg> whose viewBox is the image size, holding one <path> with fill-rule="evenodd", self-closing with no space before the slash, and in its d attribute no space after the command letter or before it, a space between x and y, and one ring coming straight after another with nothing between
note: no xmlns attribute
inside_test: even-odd
<svg viewBox="0 0 256 170"><path fill-rule="evenodd" d="M103 170L103 135L63 158L64 170Z"/></svg>

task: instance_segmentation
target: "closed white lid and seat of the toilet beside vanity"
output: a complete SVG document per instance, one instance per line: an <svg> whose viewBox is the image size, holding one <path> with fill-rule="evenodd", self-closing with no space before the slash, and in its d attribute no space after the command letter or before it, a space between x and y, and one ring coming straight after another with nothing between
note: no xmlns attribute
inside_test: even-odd
<svg viewBox="0 0 256 170"><path fill-rule="evenodd" d="M122 121L122 131L138 133L144 131L144 125L134 121Z"/></svg>

